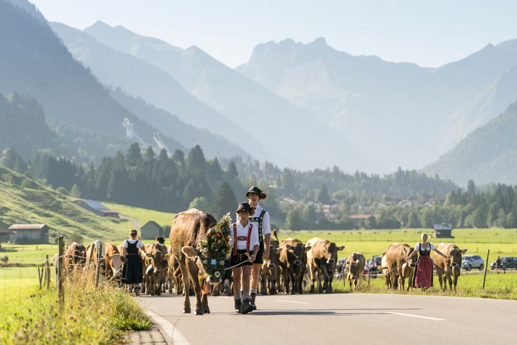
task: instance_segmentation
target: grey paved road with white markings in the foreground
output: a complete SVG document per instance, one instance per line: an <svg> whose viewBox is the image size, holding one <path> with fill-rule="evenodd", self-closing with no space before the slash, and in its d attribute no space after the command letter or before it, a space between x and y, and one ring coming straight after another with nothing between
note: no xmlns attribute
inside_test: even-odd
<svg viewBox="0 0 517 345"><path fill-rule="evenodd" d="M257 296L260 310L240 315L225 296L209 297L212 313L204 316L181 314L183 296L139 301L168 328L174 344L517 344L517 301L511 300L366 293Z"/></svg>

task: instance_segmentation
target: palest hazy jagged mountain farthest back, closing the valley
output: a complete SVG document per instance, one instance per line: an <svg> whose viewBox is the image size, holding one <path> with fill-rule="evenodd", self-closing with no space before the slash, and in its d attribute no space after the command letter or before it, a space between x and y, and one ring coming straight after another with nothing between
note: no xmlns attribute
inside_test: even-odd
<svg viewBox="0 0 517 345"><path fill-rule="evenodd" d="M317 38L308 44L286 39L257 45L248 63L237 70L318 114L395 169L397 164L428 164L467 135L473 123L482 124L477 118L497 116L517 96L517 88L507 89L511 97L501 97L502 102L485 98L485 111L468 105L516 63L514 41L487 45L440 68L421 68L377 56L352 56Z"/></svg>

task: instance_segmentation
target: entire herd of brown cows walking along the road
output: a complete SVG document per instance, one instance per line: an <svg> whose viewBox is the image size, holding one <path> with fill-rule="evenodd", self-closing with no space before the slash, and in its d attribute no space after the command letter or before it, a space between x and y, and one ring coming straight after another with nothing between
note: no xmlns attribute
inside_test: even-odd
<svg viewBox="0 0 517 345"><path fill-rule="evenodd" d="M214 290L223 291L221 275L210 276L207 272L210 261L202 260L197 250L199 243L206 238L207 231L216 224L215 218L209 213L191 209L174 216L170 231L170 247L160 243L145 245L140 251L142 260L142 293L160 296L168 291L183 294L185 302L184 313L190 313L191 293L196 296L196 314L209 313L208 295ZM309 292L331 293L332 281L336 272L338 252L345 246L338 247L336 243L322 238L311 238L307 243L295 238L278 240L271 239L269 259L262 264L261 293L274 295L278 292L303 293L304 286ZM448 255L434 258L437 276L443 288L456 289L462 254L454 244L441 244L437 248ZM391 289L410 289L410 282L417 262L417 256L411 257L414 248L406 243L389 245L382 256L382 272L386 284ZM120 279L124 258L120 254L121 247L110 243L105 245L103 261L100 262L107 279ZM66 248L65 263L68 268L87 263L96 263L96 247L85 248L78 243L72 243ZM343 272L350 289L357 289L363 279L366 259L359 252L352 252L345 261ZM87 265L88 266L88 265ZM200 279L202 277L203 279ZM447 280L446 280L447 279ZM192 287L190 286L192 284Z"/></svg>

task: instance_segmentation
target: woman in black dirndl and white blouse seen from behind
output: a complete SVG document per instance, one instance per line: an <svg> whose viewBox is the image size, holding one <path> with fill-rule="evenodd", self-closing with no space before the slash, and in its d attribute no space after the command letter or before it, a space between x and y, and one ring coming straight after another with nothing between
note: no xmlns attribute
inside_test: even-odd
<svg viewBox="0 0 517 345"><path fill-rule="evenodd" d="M140 250L144 247L137 235L138 232L135 229L129 231L130 238L122 243L122 255L124 256L122 279L124 284L128 284L128 292L135 293L135 296L140 295L140 283L142 283L143 275Z"/></svg>

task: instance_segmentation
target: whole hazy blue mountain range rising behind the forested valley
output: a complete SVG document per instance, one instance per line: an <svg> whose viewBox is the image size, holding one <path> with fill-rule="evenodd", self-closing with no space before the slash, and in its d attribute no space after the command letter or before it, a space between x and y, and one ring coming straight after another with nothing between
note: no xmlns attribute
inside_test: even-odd
<svg viewBox="0 0 517 345"><path fill-rule="evenodd" d="M52 121L120 137L129 118L145 141L159 133L167 146L202 144L208 156L377 174L440 167L463 183L444 158L517 98L517 40L421 68L288 38L257 45L232 69L199 47L123 26L51 23L51 31L30 3L11 1L33 20L0 13L0 45L9 48L0 51L1 93L27 93Z"/></svg>

